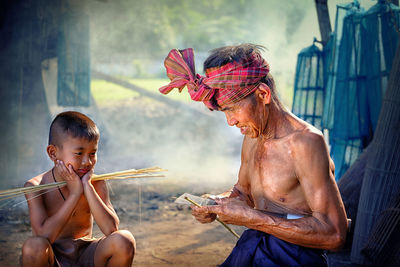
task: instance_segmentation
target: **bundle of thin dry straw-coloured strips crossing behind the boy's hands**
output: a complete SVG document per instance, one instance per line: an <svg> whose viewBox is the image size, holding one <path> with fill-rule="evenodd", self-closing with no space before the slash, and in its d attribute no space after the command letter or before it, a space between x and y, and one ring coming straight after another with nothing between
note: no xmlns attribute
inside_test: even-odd
<svg viewBox="0 0 400 267"><path fill-rule="evenodd" d="M131 169L126 171L105 173L101 175L93 174L92 181L100 181L100 180L120 180L120 179L131 179L131 178L150 178L150 177L164 177L164 175L156 174L158 172L166 171L165 169L161 169L159 167L150 167L144 169ZM43 185L34 185L28 187L14 188L8 190L0 191L0 201L6 200L9 198L17 197L23 194L34 193L45 189L52 189L56 187L62 187L67 185L65 181L43 184Z"/></svg>

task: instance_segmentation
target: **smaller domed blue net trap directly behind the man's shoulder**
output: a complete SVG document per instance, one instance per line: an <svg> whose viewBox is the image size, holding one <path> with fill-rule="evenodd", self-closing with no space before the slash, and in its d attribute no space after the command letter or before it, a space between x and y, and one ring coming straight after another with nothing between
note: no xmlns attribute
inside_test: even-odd
<svg viewBox="0 0 400 267"><path fill-rule="evenodd" d="M322 127L324 99L323 54L313 44L301 50L297 58L292 111L299 118Z"/></svg>

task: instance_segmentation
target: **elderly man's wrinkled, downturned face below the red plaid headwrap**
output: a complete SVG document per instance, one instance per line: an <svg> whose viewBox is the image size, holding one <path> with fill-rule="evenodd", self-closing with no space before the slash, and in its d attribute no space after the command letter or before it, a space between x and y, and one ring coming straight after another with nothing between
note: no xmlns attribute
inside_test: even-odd
<svg viewBox="0 0 400 267"><path fill-rule="evenodd" d="M229 126L240 128L240 132L250 138L258 137L262 119L257 112L257 101L254 93L243 100L230 105L221 106Z"/></svg>

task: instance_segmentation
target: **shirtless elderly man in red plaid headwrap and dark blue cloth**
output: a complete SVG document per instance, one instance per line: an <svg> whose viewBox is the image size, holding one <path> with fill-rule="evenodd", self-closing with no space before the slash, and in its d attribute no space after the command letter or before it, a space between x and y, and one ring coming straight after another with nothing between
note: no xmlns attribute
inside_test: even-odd
<svg viewBox="0 0 400 267"><path fill-rule="evenodd" d="M319 130L287 111L275 92L260 46L214 49L195 73L192 49L165 60L171 83L191 98L225 113L244 135L239 178L217 205L192 207L202 223L247 228L221 266L324 266L323 250L345 242L347 219L334 164Z"/></svg>

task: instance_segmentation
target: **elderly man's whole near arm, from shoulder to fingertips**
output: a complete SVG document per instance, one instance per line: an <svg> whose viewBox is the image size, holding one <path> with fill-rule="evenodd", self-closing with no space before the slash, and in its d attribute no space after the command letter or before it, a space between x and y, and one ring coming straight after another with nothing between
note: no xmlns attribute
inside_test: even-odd
<svg viewBox="0 0 400 267"><path fill-rule="evenodd" d="M198 212L218 214L229 224L272 234L301 246L335 250L345 241L347 220L343 202L329 169L329 155L322 136L308 133L295 140L293 160L311 216L287 220L254 210L239 199L222 199L217 206Z"/></svg>

